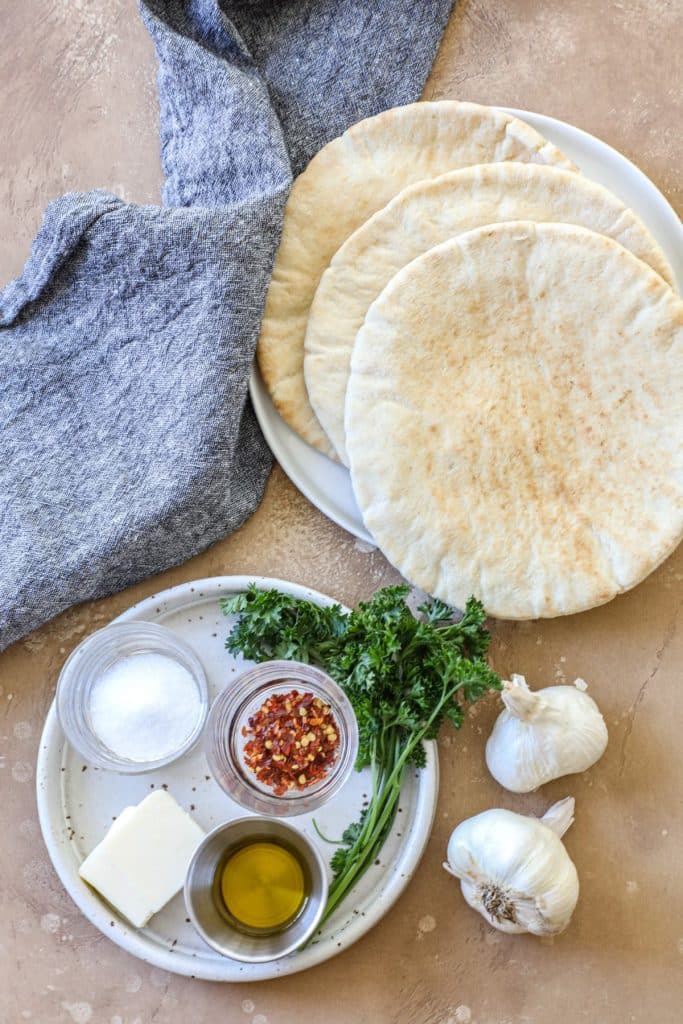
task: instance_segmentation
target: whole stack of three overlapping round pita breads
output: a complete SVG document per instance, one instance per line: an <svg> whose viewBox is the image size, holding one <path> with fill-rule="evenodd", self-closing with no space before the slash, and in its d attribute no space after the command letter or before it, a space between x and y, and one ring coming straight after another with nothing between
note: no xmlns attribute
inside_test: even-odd
<svg viewBox="0 0 683 1024"><path fill-rule="evenodd" d="M258 362L413 584L533 618L683 535L683 302L642 221L494 108L362 121L296 181Z"/></svg>

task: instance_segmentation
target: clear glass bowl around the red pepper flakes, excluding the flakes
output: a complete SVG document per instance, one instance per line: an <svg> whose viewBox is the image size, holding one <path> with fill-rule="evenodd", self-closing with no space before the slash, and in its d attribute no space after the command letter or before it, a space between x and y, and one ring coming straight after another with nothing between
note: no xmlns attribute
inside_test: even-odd
<svg viewBox="0 0 683 1024"><path fill-rule="evenodd" d="M312 693L330 706L339 745L323 778L305 790L289 790L278 797L245 764L247 738L242 729L266 697L292 689ZM358 726L346 694L325 672L300 662L264 662L243 673L216 697L207 723L205 753L215 780L242 807L289 817L322 807L339 792L355 764Z"/></svg>

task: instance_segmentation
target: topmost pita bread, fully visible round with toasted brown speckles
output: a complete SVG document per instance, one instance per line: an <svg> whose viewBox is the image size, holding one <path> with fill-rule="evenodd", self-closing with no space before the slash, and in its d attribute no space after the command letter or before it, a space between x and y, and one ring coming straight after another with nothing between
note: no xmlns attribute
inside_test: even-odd
<svg viewBox="0 0 683 1024"><path fill-rule="evenodd" d="M346 395L367 527L450 604L610 600L683 532L683 302L604 236L477 228L371 306Z"/></svg>

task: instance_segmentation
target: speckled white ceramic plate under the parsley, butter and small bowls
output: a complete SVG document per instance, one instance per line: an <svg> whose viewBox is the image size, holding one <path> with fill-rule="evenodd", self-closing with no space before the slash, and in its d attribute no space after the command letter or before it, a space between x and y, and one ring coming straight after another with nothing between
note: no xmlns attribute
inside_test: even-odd
<svg viewBox="0 0 683 1024"><path fill-rule="evenodd" d="M239 593L254 580L258 586L278 587L295 597L322 605L331 598L296 584L254 577L219 577L183 584L129 608L118 621L163 623L188 641L201 658L213 698L251 663L234 658L224 648L231 618L218 601ZM78 874L85 856L108 830L115 815L135 804L153 788L168 786L180 805L207 829L246 812L234 804L209 775L201 745L175 764L143 775L117 775L86 766L67 743L50 708L41 739L37 766L38 813L47 849L72 899L99 931L134 956L166 971L210 981L256 981L294 974L313 967L360 938L382 918L408 885L431 831L438 790L436 746L427 744L427 766L411 772L401 794L400 814L392 835L373 866L344 900L321 935L302 952L270 964L240 964L210 949L188 923L178 894L155 914L146 928L135 929L120 918ZM335 799L311 815L290 818L315 842L329 860L334 847L315 834L340 836L360 812L370 793L370 772L354 772Z"/></svg>

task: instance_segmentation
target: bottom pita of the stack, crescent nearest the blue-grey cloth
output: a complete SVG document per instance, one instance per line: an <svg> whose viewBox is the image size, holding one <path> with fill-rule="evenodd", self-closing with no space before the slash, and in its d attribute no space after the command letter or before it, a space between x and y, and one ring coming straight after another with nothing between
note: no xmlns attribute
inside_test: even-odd
<svg viewBox="0 0 683 1024"><path fill-rule="evenodd" d="M412 103L349 128L294 182L268 289L258 365L283 419L336 458L303 377L303 339L317 283L349 234L396 193L422 178L503 160L572 164L517 118L455 100Z"/></svg>

